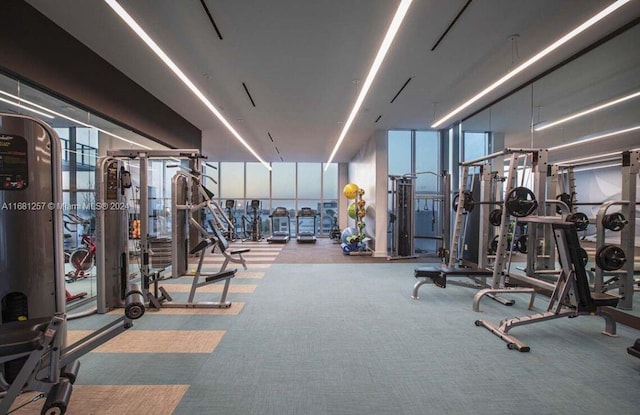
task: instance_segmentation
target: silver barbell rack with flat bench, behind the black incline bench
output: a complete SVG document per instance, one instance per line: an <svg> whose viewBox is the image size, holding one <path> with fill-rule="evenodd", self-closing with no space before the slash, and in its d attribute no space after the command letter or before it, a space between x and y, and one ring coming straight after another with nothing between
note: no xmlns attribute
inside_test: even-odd
<svg viewBox="0 0 640 415"><path fill-rule="evenodd" d="M517 172L522 168L520 160L525 164L530 163L533 175L533 189L524 187L524 175L518 185ZM471 282L451 281L453 284L483 288L474 297L474 310L479 310L479 302L483 296L489 296L505 305L512 305L513 300L507 300L497 294L500 293L530 293L533 303L534 290L532 288L507 287L505 268L508 260L508 234L509 219L524 218L540 213L543 205L539 205L536 194L544 194L544 180L547 166L547 150L545 149L504 149L478 159L460 163L460 190L453 200L455 220L451 237L450 257L447 264L437 267L421 267L414 272L416 278L421 278L413 288L413 298L418 299L418 290L426 283L435 283L445 288L447 278L467 278ZM526 166L523 166L526 167ZM507 170L506 178L502 178L504 170ZM480 198L476 200L472 191L475 175L470 173L479 170ZM499 173L494 173L495 171ZM524 171L524 168L523 168ZM503 183L504 182L504 183ZM499 183L499 185L497 184ZM504 195L504 196L503 196ZM463 261L463 248L465 247L465 233L468 213L479 206L478 220L478 257L477 263ZM497 209L496 209L497 208ZM489 221L490 215L495 217L497 223L497 243L495 254L489 255L489 240L491 233L496 232ZM496 213L497 212L497 213ZM542 233L537 226L529 226L528 239L537 241ZM490 281L487 281L488 278Z"/></svg>

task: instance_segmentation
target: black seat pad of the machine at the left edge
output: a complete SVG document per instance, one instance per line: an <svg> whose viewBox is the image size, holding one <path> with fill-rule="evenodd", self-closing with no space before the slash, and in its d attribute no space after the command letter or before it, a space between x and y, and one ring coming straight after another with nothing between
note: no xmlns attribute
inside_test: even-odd
<svg viewBox="0 0 640 415"><path fill-rule="evenodd" d="M0 325L0 356L11 356L35 350L51 318L12 321Z"/></svg>

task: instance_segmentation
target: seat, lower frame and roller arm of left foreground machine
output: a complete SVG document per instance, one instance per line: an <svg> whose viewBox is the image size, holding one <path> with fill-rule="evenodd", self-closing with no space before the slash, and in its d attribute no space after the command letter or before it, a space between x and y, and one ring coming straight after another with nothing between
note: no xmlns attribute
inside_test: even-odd
<svg viewBox="0 0 640 415"><path fill-rule="evenodd" d="M42 414L64 414L80 370L77 359L133 327L132 320L143 314L144 298L134 287L125 297L123 317L67 347L65 314L1 324L0 414L31 391L42 392L31 402L46 396Z"/></svg>

